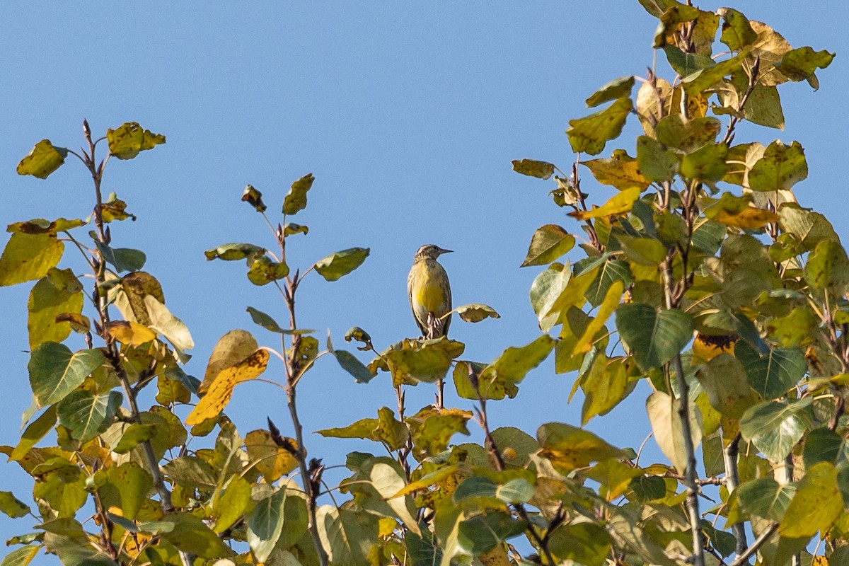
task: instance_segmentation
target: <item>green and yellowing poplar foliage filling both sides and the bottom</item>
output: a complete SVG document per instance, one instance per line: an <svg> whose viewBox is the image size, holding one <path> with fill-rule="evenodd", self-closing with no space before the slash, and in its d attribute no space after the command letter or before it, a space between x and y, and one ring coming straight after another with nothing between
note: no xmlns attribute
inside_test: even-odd
<svg viewBox="0 0 849 566"><path fill-rule="evenodd" d="M566 130L576 154L566 172L514 161L521 174L554 177L554 205L572 220L540 227L522 263L544 266L530 292L543 333L493 361L464 359L446 338L379 351L362 328L345 335L370 352L355 354L301 328L295 294L309 273L335 281L368 256L351 248L303 272L289 265L287 247L309 232L290 221L306 208L306 175L280 221L245 189L272 246L205 252L244 261L250 283L277 291L285 323L247 306L261 339L277 344L234 329L203 379L188 376L188 328L143 271L143 252L113 244L110 225L134 217L101 193L111 157L132 159L165 137L128 123L95 140L85 124L80 154L37 143L18 172L45 178L76 156L92 174L94 208L85 220L10 225L0 256L0 284L35 282L34 401L16 446L0 448L34 479L31 502L3 491L0 510L34 530L8 541L3 566L42 552L65 564L217 566L846 562L849 258L829 221L796 200L801 144L735 139L742 120L781 128L779 87L816 89L834 54L792 48L732 8L640 4L660 22L653 47L671 70L594 92L588 106L603 108ZM597 157L627 120L642 128L635 143ZM66 247L82 261L64 258ZM498 317L481 304L455 311L466 322ZM321 357L363 387L393 387L398 401L318 431L374 441L373 453L347 455L350 477L332 489L296 402L299 387L318 386ZM487 404L509 402L543 361L575 376L582 423L490 423ZM236 385L259 376L278 384L289 415L270 403L267 429L243 435L224 411ZM640 380L668 462L582 429ZM474 412L406 406L406 389L443 381ZM458 436L470 426L482 444Z"/></svg>

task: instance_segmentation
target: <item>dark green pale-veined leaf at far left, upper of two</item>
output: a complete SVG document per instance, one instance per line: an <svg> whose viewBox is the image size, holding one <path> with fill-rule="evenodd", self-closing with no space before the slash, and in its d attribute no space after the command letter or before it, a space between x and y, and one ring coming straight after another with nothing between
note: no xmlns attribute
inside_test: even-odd
<svg viewBox="0 0 849 566"><path fill-rule="evenodd" d="M53 405L65 399L85 378L105 362L100 350L70 349L55 342L43 342L32 350L30 384L38 406Z"/></svg>

